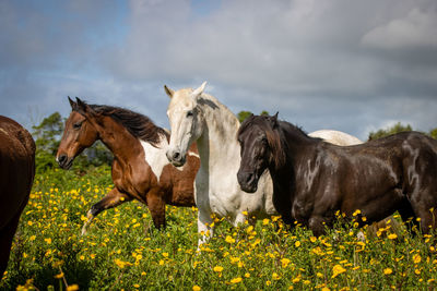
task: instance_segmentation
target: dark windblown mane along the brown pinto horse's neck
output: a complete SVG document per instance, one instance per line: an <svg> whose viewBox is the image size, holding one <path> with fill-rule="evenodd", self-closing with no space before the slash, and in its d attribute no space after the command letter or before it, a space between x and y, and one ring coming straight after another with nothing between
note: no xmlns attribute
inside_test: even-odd
<svg viewBox="0 0 437 291"><path fill-rule="evenodd" d="M123 125L133 136L157 146L161 136L168 137L168 133L156 126L147 117L120 107L88 105L94 111L113 118Z"/></svg>

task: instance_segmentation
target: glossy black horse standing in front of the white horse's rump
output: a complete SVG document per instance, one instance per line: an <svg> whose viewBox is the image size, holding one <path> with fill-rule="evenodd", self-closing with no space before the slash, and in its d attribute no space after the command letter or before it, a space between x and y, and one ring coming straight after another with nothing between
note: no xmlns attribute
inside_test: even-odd
<svg viewBox="0 0 437 291"><path fill-rule="evenodd" d="M437 227L437 141L424 134L340 147L309 137L276 114L247 119L238 141L241 189L255 192L268 168L273 204L287 223L296 220L320 235L338 210L352 218L359 209L362 226L398 210L403 220L420 218L424 233Z"/></svg>

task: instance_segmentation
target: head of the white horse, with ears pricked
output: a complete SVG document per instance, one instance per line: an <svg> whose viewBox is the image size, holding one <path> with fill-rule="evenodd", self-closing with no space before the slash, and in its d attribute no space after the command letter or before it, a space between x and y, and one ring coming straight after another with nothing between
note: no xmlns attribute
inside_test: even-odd
<svg viewBox="0 0 437 291"><path fill-rule="evenodd" d="M204 118L198 101L205 85L206 82L194 90L189 88L176 92L164 86L172 99L167 109L172 135L166 155L176 167L185 165L189 147L202 135Z"/></svg>

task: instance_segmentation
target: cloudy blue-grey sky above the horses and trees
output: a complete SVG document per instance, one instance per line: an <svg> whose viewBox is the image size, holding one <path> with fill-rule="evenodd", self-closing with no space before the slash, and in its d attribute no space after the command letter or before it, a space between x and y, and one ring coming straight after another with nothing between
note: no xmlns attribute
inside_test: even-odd
<svg viewBox="0 0 437 291"><path fill-rule="evenodd" d="M0 114L27 129L67 96L168 128L173 89L307 132L437 128L435 0L0 0Z"/></svg>

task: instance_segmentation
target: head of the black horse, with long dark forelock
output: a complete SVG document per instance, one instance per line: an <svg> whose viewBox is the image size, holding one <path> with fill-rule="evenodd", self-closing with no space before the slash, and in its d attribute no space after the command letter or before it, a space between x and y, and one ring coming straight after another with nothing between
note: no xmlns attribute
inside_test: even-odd
<svg viewBox="0 0 437 291"><path fill-rule="evenodd" d="M258 181L273 161L276 147L273 129L277 126L277 113L273 117L250 116L240 125L237 140L240 144L240 167L237 179L243 191L255 193Z"/></svg>

